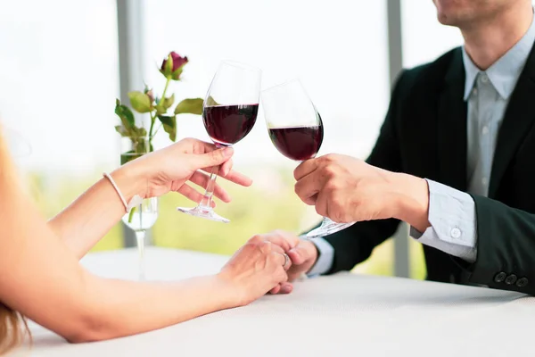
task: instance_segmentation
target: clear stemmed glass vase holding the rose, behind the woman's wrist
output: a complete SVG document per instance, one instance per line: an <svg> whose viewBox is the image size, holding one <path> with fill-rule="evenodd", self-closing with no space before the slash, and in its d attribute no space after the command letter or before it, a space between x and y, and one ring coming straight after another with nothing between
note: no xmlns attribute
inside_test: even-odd
<svg viewBox="0 0 535 357"><path fill-rule="evenodd" d="M120 164L137 159L150 152L147 137L122 137ZM158 198L146 198L141 204L132 207L130 212L122 217L122 221L136 234L137 251L139 253L139 280L145 279L144 269L144 238L146 231L152 228L158 219Z"/></svg>

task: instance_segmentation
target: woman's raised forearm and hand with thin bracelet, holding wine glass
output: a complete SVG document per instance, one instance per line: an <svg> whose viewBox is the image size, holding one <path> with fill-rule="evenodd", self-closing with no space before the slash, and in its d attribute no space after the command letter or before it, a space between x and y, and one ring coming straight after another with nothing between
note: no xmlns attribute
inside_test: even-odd
<svg viewBox="0 0 535 357"><path fill-rule="evenodd" d="M226 171L224 172L226 179L243 186L251 185L251 179L230 170L232 162L228 161L229 156L225 157L220 151L210 150L213 150L211 145L197 140L184 139L159 152L146 155L143 159L129 162L112 172L111 176L127 202L134 195L144 195L151 191L162 195L169 190L177 191L199 202L202 195L187 186L185 181L189 179L204 187L208 178L197 170L210 163L225 162L221 171ZM179 169L176 169L177 167ZM158 178L156 183L154 177ZM161 182L162 177L163 182ZM230 201L230 196L219 186L216 186L214 195L224 202ZM80 259L124 214L125 207L119 195L107 179L101 179L69 207L49 220L48 226Z"/></svg>

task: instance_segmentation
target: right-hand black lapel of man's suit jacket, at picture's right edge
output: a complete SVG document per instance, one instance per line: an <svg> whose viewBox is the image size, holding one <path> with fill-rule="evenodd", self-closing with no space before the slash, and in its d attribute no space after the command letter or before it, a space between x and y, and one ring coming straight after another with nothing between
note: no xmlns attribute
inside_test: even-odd
<svg viewBox="0 0 535 357"><path fill-rule="evenodd" d="M531 49L513 94L509 99L498 140L492 172L490 175L489 197L495 197L501 179L509 162L523 142L535 120L535 46Z"/></svg>

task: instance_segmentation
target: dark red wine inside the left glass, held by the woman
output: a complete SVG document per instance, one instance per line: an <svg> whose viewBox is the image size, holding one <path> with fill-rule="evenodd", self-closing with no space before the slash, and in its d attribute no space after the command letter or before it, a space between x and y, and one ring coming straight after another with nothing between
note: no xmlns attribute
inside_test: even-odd
<svg viewBox="0 0 535 357"><path fill-rule="evenodd" d="M249 134L258 113L259 104L207 106L202 112L202 122L214 143L228 146Z"/></svg>

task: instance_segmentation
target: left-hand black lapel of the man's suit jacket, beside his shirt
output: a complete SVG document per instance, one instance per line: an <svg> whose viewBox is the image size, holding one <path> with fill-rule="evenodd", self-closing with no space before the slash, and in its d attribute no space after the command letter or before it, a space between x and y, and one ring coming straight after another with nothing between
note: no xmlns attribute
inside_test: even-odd
<svg viewBox="0 0 535 357"><path fill-rule="evenodd" d="M437 141L440 181L444 185L466 190L466 103L465 67L462 52L454 52L446 73L445 86L439 96Z"/></svg>

